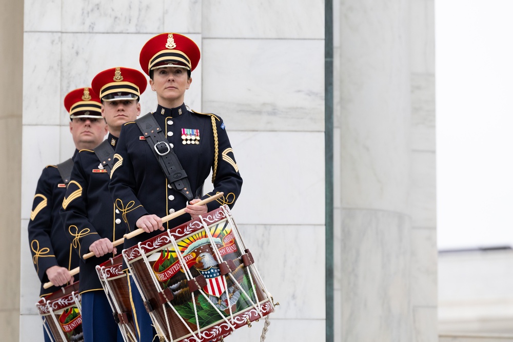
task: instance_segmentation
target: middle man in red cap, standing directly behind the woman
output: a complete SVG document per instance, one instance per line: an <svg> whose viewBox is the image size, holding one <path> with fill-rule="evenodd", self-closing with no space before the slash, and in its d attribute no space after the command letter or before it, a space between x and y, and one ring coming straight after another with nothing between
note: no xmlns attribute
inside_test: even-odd
<svg viewBox="0 0 513 342"><path fill-rule="evenodd" d="M139 98L146 89L146 78L134 69L112 68L98 73L92 88L102 100L102 116L109 136L94 151L81 150L76 155L61 217L64 230L80 256L84 341L112 342L123 338L95 266L116 254L112 242L122 238L126 230L121 213L114 208L108 184L121 126L140 114ZM95 257L84 259L89 252Z"/></svg>

